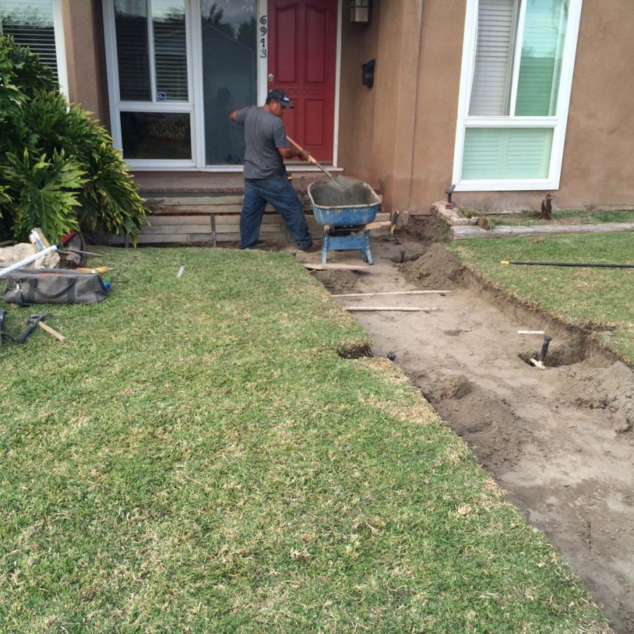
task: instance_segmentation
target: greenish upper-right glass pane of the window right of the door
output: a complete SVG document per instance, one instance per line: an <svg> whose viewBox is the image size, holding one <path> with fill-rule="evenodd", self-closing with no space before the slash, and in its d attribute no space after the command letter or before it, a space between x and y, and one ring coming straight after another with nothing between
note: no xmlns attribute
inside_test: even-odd
<svg viewBox="0 0 634 634"><path fill-rule="evenodd" d="M519 69L516 116L557 113L569 0L530 0Z"/></svg>

